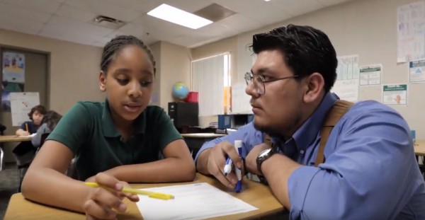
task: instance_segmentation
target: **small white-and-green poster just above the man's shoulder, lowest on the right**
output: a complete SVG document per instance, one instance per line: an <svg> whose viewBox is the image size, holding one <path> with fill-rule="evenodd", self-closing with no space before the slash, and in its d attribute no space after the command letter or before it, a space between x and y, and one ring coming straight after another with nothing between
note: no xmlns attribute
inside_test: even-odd
<svg viewBox="0 0 425 220"><path fill-rule="evenodd" d="M407 105L407 84L382 85L382 103Z"/></svg>

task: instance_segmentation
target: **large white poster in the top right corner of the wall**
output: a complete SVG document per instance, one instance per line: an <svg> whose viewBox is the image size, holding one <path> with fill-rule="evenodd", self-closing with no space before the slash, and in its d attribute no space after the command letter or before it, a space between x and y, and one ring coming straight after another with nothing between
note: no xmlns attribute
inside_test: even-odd
<svg viewBox="0 0 425 220"><path fill-rule="evenodd" d="M397 8L397 62L425 59L425 1Z"/></svg>

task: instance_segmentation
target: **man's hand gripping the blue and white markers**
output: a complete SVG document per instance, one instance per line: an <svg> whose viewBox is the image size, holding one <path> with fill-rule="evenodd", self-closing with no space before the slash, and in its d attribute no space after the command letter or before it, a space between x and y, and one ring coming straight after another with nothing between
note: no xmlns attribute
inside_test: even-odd
<svg viewBox="0 0 425 220"><path fill-rule="evenodd" d="M233 144L230 144L229 141L222 141L209 151L210 155L208 156L207 161L208 173L214 175L215 178L217 178L217 180L219 180L225 186L234 188L237 183L236 175L234 172L230 172L227 175L224 173L226 157L228 156L232 159L233 166L242 168L242 172L244 168L242 158L240 158L237 154Z"/></svg>

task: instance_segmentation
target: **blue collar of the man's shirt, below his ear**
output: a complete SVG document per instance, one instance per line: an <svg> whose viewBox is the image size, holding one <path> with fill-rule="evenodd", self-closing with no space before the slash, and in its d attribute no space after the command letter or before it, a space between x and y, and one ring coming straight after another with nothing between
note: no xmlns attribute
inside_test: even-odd
<svg viewBox="0 0 425 220"><path fill-rule="evenodd" d="M322 129L324 117L332 108L336 99L337 96L334 95L334 93L329 92L324 95L322 103L320 103L317 109L314 110L312 116L310 116L307 121L293 134L293 139L298 150L307 149L312 141L317 138L317 134L319 134L320 129Z"/></svg>

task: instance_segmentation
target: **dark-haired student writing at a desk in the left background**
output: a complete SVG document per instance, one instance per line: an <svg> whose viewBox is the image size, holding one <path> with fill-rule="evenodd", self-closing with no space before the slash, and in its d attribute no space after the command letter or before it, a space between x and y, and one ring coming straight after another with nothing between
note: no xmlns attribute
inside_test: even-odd
<svg viewBox="0 0 425 220"><path fill-rule="evenodd" d="M38 127L41 125L42 117L46 112L47 110L43 105L35 105L33 108L31 108L31 111L28 113L30 121L23 122L21 127L16 130L16 135L27 136L37 132Z"/></svg>

